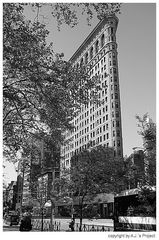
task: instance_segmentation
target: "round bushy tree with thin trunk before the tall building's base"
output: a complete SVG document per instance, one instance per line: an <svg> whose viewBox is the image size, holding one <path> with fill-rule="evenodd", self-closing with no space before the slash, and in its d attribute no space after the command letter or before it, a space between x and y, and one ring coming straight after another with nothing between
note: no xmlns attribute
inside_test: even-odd
<svg viewBox="0 0 159 240"><path fill-rule="evenodd" d="M112 148L97 146L71 158L70 177L64 176L61 192L78 201L80 230L86 203L91 204L98 193L120 192L124 185L123 160L115 159L113 153Z"/></svg>

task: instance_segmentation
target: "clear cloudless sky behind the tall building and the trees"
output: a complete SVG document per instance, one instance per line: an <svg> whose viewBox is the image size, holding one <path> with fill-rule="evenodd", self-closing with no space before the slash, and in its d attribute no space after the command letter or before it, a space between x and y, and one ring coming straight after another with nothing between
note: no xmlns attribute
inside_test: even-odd
<svg viewBox="0 0 159 240"><path fill-rule="evenodd" d="M136 114L148 113L156 122L156 9L155 3L122 3L117 28L118 65L121 96L123 154L129 156L133 147L142 147L137 133ZM55 19L48 7L43 10L50 31L48 42L53 42L55 52L64 53L69 60L85 38L97 25L91 26L79 15L74 28L63 25L57 30ZM33 12L26 10L28 18ZM14 172L14 167L12 168ZM14 174L15 178L15 174ZM14 180L14 179L13 179Z"/></svg>

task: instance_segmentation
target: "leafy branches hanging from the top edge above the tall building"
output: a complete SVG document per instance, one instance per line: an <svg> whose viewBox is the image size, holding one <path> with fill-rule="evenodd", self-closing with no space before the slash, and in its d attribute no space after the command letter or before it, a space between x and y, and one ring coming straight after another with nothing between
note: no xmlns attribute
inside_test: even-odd
<svg viewBox="0 0 159 240"><path fill-rule="evenodd" d="M62 24L67 24L70 27L75 27L79 21L79 12L87 20L88 25L91 25L93 17L102 20L111 14L120 14L121 3L35 3L30 5L36 11L36 19L40 16L44 20L43 8L49 6L51 14L57 21L58 29Z"/></svg>

